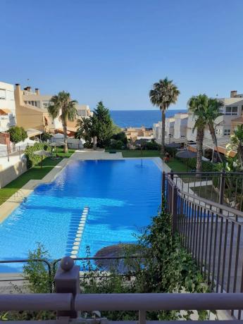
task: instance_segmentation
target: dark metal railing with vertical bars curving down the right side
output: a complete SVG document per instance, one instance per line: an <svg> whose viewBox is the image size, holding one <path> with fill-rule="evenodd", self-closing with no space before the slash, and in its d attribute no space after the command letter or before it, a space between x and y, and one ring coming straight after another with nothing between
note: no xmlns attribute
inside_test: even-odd
<svg viewBox="0 0 243 324"><path fill-rule="evenodd" d="M222 186L222 174L220 177ZM201 198L185 189L180 181L170 173L163 184L173 233L179 235L182 246L197 261L212 291L243 292L242 211ZM241 311L237 316L241 317Z"/></svg>

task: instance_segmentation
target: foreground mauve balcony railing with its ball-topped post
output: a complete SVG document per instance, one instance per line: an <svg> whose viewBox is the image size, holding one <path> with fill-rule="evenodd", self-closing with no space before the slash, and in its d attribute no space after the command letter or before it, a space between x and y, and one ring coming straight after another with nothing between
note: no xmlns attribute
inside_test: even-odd
<svg viewBox="0 0 243 324"><path fill-rule="evenodd" d="M0 311L56 311L56 320L49 320L48 323L68 323L75 319L78 323L90 323L89 320L80 318L80 311L138 311L138 323L145 324L149 323L146 320L147 311L230 310L241 309L243 305L241 293L80 294L79 278L80 267L74 266L72 258L65 257L55 276L56 293L0 294ZM94 320L94 323L104 323L104 321L108 322L101 317ZM36 321L26 321L26 323L31 322ZM161 323L165 322L161 321Z"/></svg>

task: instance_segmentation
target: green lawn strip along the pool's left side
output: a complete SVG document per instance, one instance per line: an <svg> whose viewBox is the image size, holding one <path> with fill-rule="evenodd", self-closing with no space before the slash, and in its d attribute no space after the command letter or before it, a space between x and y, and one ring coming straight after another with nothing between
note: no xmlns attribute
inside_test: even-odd
<svg viewBox="0 0 243 324"><path fill-rule="evenodd" d="M63 158L69 158L75 150L69 149L68 153L63 153L63 149L58 148L58 156L61 156L58 160L51 160L51 158L44 158L42 168L37 165L27 170L23 175L20 175L12 182L8 183L5 187L0 189L0 205L4 203L9 197L23 187L29 180L42 179L51 169L56 166Z"/></svg>

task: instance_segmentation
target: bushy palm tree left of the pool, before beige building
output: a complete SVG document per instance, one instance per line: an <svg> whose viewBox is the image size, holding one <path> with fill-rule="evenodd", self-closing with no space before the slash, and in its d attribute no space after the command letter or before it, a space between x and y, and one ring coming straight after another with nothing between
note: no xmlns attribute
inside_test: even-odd
<svg viewBox="0 0 243 324"><path fill-rule="evenodd" d="M76 100L71 100L68 92L62 91L52 96L47 108L52 118L59 118L63 125L65 153L68 153L67 121L74 121L77 116Z"/></svg>

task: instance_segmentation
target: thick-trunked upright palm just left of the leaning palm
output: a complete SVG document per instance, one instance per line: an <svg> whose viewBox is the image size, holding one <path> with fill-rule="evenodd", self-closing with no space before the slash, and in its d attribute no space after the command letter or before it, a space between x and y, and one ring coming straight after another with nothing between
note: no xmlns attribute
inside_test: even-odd
<svg viewBox="0 0 243 324"><path fill-rule="evenodd" d="M197 116L193 132L197 129L197 172L202 170L202 155L203 155L203 143L204 143L204 129L207 125L206 111L208 109L208 97L206 94L199 94L199 96L192 96L188 101L189 111Z"/></svg>

